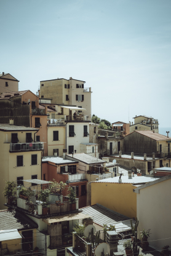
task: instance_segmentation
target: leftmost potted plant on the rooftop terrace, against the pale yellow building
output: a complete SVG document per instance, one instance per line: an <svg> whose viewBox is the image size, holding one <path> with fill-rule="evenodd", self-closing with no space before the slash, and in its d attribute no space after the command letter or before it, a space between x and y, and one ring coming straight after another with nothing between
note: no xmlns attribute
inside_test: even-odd
<svg viewBox="0 0 171 256"><path fill-rule="evenodd" d="M17 199L17 184L15 182L6 182L3 194L8 199L8 204L12 205L12 202Z"/></svg>

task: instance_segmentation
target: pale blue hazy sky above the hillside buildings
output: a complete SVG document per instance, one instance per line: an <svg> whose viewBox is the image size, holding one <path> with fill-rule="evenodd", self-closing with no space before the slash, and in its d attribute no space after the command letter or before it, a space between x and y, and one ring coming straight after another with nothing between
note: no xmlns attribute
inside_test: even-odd
<svg viewBox="0 0 171 256"><path fill-rule="evenodd" d="M0 0L0 73L34 93L42 80L82 80L99 118L171 127L170 10L170 0Z"/></svg>

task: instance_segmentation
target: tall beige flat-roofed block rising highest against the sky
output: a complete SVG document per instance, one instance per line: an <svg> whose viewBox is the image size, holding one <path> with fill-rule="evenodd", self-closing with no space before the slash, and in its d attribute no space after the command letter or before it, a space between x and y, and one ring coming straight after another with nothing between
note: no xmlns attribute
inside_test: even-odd
<svg viewBox="0 0 171 256"><path fill-rule="evenodd" d="M57 78L40 82L40 98L50 98L51 103L85 108L85 114L89 118L91 117L91 94L91 87L85 87L85 81L73 78L68 80Z"/></svg>

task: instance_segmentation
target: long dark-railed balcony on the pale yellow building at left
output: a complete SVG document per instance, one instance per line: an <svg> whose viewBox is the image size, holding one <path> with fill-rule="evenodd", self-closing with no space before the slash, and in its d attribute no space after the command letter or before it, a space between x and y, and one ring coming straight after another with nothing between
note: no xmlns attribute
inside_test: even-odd
<svg viewBox="0 0 171 256"><path fill-rule="evenodd" d="M30 150L44 150L43 142L34 143L10 143L10 152L14 151L30 151Z"/></svg>

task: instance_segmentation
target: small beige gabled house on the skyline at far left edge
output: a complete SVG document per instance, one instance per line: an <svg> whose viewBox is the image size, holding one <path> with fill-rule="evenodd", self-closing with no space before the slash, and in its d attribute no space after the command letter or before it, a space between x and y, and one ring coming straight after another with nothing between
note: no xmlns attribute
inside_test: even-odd
<svg viewBox="0 0 171 256"><path fill-rule="evenodd" d="M0 94L4 92L18 92L18 81L9 73L0 74Z"/></svg>

